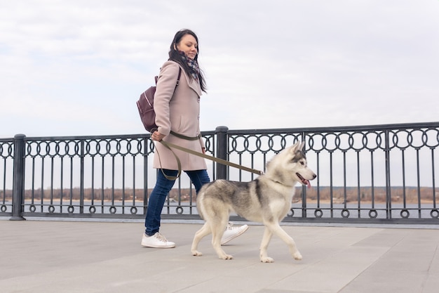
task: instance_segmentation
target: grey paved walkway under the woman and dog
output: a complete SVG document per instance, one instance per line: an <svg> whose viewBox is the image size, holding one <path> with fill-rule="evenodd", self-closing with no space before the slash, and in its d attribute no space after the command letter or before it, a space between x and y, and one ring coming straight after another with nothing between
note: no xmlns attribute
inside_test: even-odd
<svg viewBox="0 0 439 293"><path fill-rule="evenodd" d="M217 259L210 237L191 256L199 223L163 223L174 249L140 246L143 223L0 221L0 292L437 293L439 230L284 226L304 256L273 237L259 262L262 226Z"/></svg>

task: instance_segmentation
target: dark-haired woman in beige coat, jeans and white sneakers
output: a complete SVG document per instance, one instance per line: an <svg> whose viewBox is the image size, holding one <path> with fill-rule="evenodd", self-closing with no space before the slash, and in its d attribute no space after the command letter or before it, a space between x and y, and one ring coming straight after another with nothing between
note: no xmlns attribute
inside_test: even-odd
<svg viewBox="0 0 439 293"><path fill-rule="evenodd" d="M203 73L198 67L198 53L198 37L194 32L180 30L175 34L170 44L169 60L163 64L158 74L154 95L154 112L156 112L158 130L154 131L151 138L154 141L163 140L205 153L199 117L200 96L206 89ZM176 86L179 76L180 80ZM173 152L179 157L182 170L188 174L198 193L201 186L210 181L204 159L181 150L173 150ZM170 177L177 176L178 172L177 160L173 153L161 143L156 143L153 167L161 171L157 172L156 186L149 197L142 246L175 247L174 242L166 240L166 237L158 232L163 204L175 183ZM227 226L222 244L241 235L247 229L247 225Z"/></svg>

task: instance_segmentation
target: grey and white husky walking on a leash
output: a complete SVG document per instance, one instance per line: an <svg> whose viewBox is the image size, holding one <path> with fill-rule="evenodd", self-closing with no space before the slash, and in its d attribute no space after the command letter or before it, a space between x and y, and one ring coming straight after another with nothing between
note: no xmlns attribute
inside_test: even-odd
<svg viewBox="0 0 439 293"><path fill-rule="evenodd" d="M203 185L196 203L205 223L195 234L192 254L203 255L197 250L198 242L212 233L212 246L219 259L232 259L233 256L222 250L221 237L229 221L230 211L235 211L249 221L264 224L265 231L260 247L262 262L273 262L266 251L273 234L288 245L294 259L301 260L302 254L297 250L295 241L281 228L279 222L290 210L296 183L309 185L309 180L316 178L316 174L306 166L303 146L304 143L295 143L281 151L266 164L266 173L253 181L217 180Z"/></svg>

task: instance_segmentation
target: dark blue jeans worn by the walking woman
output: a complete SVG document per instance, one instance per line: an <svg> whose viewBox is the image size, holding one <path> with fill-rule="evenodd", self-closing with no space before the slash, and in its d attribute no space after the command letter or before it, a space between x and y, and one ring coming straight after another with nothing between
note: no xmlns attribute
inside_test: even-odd
<svg viewBox="0 0 439 293"><path fill-rule="evenodd" d="M178 173L177 170L158 169L156 186L149 196L147 216L145 217L144 221L145 234L149 236L157 233L158 229L160 228L161 210L163 209L163 204L165 204L168 193L170 192L171 188L173 188L175 183L175 180L168 180L165 176L163 176L162 170L167 176L177 176ZM184 172L189 176L189 178L191 178L191 181L195 186L196 193L198 193L198 191L201 189L201 186L210 182L210 178L206 170Z"/></svg>

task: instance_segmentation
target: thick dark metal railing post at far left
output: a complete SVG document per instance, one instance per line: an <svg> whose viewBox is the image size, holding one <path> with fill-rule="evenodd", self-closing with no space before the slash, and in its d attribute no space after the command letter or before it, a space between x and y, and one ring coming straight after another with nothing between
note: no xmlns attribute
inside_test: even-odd
<svg viewBox="0 0 439 293"><path fill-rule="evenodd" d="M24 183L25 183L25 135L14 136L14 177L12 191L12 217L11 221L22 221Z"/></svg>

